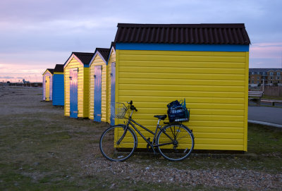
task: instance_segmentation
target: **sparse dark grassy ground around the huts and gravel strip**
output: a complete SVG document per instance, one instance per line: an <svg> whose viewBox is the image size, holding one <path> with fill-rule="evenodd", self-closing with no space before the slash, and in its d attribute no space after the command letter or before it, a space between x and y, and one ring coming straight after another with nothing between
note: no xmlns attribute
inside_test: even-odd
<svg viewBox="0 0 282 191"><path fill-rule="evenodd" d="M81 161L94 165L95 160L103 159L99 137L108 125L71 119L51 103L38 103L42 110L36 113L0 116L0 190L229 190L200 183L137 182L110 171L88 175L80 166ZM27 109L32 106L27 104ZM249 124L246 154L198 154L184 161L170 162L160 155L136 153L126 162L144 169L152 165L181 170L240 169L276 174L282 171L281 158L282 130ZM231 187L231 190L240 189Z"/></svg>

